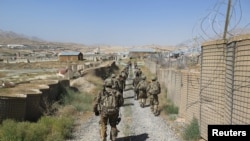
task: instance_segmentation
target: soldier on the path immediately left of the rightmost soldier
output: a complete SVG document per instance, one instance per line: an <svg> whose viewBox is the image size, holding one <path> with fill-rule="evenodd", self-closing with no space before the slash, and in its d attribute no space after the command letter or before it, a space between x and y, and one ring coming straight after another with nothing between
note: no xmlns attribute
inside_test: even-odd
<svg viewBox="0 0 250 141"><path fill-rule="evenodd" d="M140 106L143 108L146 104L146 99L147 99L147 87L148 87L148 82L146 81L146 76L143 75L141 77L141 81L138 83L136 86L136 90L139 91L139 103Z"/></svg>

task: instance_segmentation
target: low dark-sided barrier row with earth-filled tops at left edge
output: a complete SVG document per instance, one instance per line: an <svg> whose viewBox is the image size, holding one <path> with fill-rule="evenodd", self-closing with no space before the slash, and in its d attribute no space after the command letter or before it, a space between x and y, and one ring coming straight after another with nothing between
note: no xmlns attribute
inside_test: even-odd
<svg viewBox="0 0 250 141"><path fill-rule="evenodd" d="M62 87L69 87L69 80L34 80L14 88L3 88L5 90L0 93L0 122L5 119L38 120L43 110L58 100Z"/></svg>

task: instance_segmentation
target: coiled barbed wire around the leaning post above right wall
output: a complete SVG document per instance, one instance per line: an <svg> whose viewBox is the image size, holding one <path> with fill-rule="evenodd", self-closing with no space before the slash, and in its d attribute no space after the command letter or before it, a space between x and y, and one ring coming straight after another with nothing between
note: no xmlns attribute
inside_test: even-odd
<svg viewBox="0 0 250 141"><path fill-rule="evenodd" d="M221 39L225 26L226 9L228 2L217 1L214 6L209 9L207 15L200 19L192 30L194 37L202 39L202 41ZM240 0L233 0L230 5L230 16L227 35L236 36L250 32L250 21L245 26L241 26L243 18L242 3ZM247 15L248 16L248 15Z"/></svg>

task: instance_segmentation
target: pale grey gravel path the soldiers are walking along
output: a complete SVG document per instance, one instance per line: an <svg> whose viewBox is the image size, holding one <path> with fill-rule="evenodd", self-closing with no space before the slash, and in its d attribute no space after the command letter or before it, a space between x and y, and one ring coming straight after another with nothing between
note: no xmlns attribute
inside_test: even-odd
<svg viewBox="0 0 250 141"><path fill-rule="evenodd" d="M131 87L132 80L128 78L124 92L124 106L121 107L121 122L117 141L182 141L170 129L167 122L160 116L154 116L149 108L149 102L144 108L134 100ZM91 116L75 131L75 139L70 141L100 141L99 116ZM108 134L110 127L108 126ZM107 137L109 139L109 136Z"/></svg>

